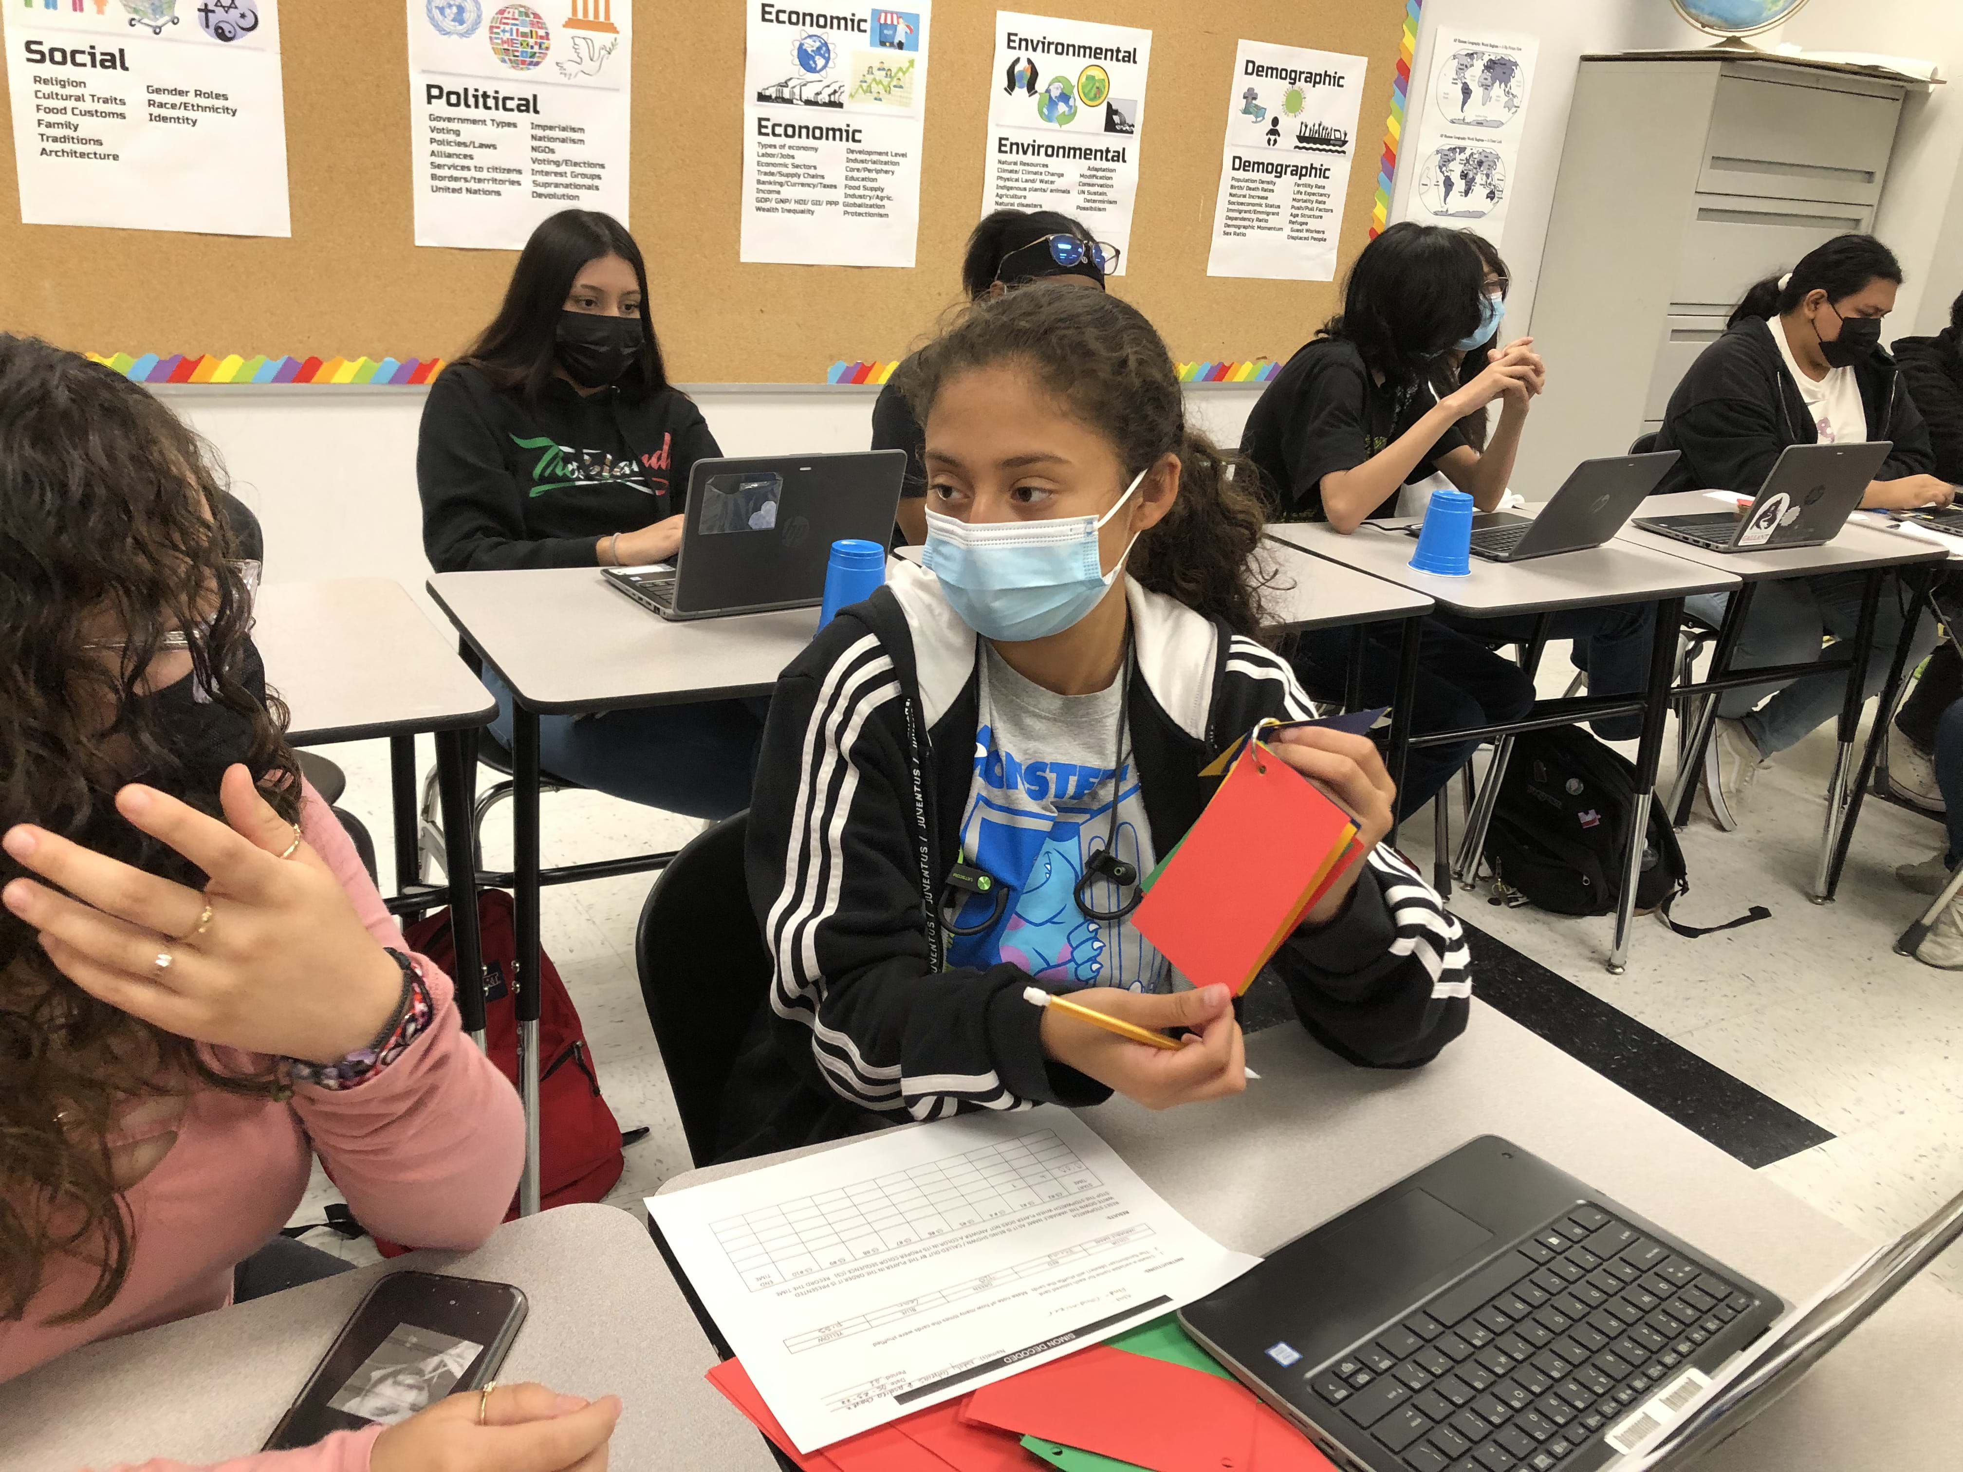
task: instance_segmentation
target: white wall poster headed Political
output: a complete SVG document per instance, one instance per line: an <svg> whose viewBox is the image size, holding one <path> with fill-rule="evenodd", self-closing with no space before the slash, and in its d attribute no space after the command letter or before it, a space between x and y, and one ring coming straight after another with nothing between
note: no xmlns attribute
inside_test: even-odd
<svg viewBox="0 0 1963 1472"><path fill-rule="evenodd" d="M406 0L418 245L516 251L548 214L626 224L634 0Z"/></svg>

